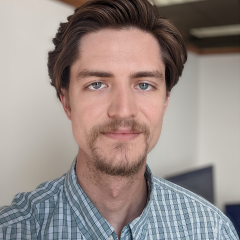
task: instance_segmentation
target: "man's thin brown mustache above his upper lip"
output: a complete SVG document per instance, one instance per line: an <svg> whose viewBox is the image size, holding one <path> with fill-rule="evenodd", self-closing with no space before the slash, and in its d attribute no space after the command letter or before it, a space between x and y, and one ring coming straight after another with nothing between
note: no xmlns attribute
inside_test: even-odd
<svg viewBox="0 0 240 240"><path fill-rule="evenodd" d="M143 133L146 139L150 135L149 127L145 123L139 123L135 119L113 119L93 127L89 134L89 142L93 143L102 133L116 132L120 127L128 127L133 133Z"/></svg>

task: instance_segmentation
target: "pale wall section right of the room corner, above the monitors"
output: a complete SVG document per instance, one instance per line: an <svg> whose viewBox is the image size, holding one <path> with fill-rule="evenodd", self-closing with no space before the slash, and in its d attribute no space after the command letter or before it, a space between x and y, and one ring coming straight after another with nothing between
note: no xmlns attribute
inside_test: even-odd
<svg viewBox="0 0 240 240"><path fill-rule="evenodd" d="M199 57L197 165L214 164L216 205L240 203L240 54Z"/></svg>

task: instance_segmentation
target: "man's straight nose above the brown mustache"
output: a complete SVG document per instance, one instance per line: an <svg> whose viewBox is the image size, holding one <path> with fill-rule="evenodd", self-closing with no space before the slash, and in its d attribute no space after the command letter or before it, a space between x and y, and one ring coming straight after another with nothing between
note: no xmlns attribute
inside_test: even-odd
<svg viewBox="0 0 240 240"><path fill-rule="evenodd" d="M138 107L134 90L129 86L121 84L112 91L111 101L108 107L108 116L111 118L134 118L137 115Z"/></svg>

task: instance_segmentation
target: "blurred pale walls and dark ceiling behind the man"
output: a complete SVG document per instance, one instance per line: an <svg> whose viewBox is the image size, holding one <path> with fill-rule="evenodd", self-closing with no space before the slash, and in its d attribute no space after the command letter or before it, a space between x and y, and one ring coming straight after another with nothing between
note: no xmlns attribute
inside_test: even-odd
<svg viewBox="0 0 240 240"><path fill-rule="evenodd" d="M210 167L214 204L225 211L240 203L240 1L154 2L184 36L188 61L148 164L163 178ZM77 154L47 53L83 3L0 1L0 206L60 177Z"/></svg>

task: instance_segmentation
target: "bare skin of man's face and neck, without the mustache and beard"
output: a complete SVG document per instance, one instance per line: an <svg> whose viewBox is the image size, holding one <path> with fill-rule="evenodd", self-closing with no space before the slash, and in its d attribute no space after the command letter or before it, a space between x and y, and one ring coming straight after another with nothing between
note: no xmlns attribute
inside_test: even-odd
<svg viewBox="0 0 240 240"><path fill-rule="evenodd" d="M123 227L146 206L146 157L130 176L109 175L96 168L88 139L95 126L114 120L147 126L148 138L121 125L117 131L98 135L95 147L100 161L115 168L134 165L144 150L148 153L155 146L169 101L157 40L136 28L85 35L70 69L69 91L62 89L61 101L79 146L78 183L120 238Z"/></svg>

